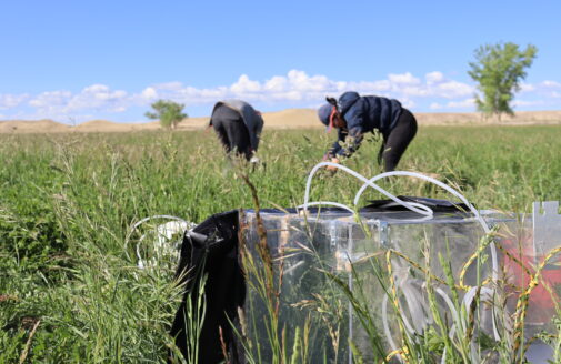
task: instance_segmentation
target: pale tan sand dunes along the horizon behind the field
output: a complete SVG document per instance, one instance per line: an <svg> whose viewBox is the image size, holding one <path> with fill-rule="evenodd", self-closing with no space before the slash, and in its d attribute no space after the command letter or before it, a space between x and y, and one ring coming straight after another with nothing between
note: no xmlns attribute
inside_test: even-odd
<svg viewBox="0 0 561 364"><path fill-rule="evenodd" d="M497 124L497 120L483 120L479 113L414 113L420 125ZM323 128L313 109L287 109L263 113L267 129ZM178 130L207 128L209 118L189 118L179 123ZM561 124L561 111L520 111L513 118L503 118L500 124ZM62 133L62 132L131 132L161 129L158 121L146 123L117 123L91 120L71 127L49 119L0 121L0 133Z"/></svg>

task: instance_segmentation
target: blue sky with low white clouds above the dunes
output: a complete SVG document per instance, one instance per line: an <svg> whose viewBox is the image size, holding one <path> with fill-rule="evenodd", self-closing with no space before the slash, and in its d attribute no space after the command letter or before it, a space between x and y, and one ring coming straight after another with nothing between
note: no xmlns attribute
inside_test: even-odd
<svg viewBox="0 0 561 364"><path fill-rule="evenodd" d="M474 111L481 44L538 47L515 110L561 110L561 1L3 1L0 120L146 121L240 98L315 108L347 90Z"/></svg>

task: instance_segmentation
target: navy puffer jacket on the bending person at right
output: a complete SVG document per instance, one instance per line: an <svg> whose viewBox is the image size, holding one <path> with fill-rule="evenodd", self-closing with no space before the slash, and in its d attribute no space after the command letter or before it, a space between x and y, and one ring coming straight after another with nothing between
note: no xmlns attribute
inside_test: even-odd
<svg viewBox="0 0 561 364"><path fill-rule="evenodd" d="M354 91L343 93L339 98L338 107L347 121L347 130L338 130L338 140L328 151L329 156L350 156L359 149L363 134L374 129L379 130L385 140L398 123L402 110L398 100L361 97ZM351 138L349 141L348 136Z"/></svg>

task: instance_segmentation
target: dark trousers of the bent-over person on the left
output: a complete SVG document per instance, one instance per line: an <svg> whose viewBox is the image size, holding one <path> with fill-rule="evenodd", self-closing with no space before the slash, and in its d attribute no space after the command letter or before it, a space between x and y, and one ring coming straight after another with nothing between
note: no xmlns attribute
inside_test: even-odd
<svg viewBox="0 0 561 364"><path fill-rule="evenodd" d="M227 105L218 107L212 113L212 127L227 153L234 152L251 158L249 131L240 113Z"/></svg>

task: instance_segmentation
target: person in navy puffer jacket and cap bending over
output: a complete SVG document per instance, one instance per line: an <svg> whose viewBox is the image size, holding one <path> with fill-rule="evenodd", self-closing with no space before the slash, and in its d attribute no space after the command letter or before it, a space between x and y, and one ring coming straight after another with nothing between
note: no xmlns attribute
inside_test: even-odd
<svg viewBox="0 0 561 364"><path fill-rule="evenodd" d="M378 130L382 145L378 162L383 160L384 171L393 171L417 134L417 120L398 100L381 97L361 97L358 92L344 92L339 101L328 98L327 104L318 110L321 122L338 129L338 140L325 153L324 159L340 163L341 158L351 156L364 138L364 133ZM329 166L329 170L337 170Z"/></svg>

